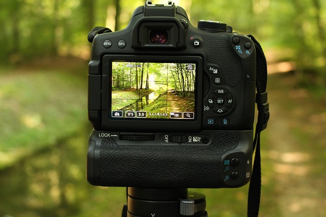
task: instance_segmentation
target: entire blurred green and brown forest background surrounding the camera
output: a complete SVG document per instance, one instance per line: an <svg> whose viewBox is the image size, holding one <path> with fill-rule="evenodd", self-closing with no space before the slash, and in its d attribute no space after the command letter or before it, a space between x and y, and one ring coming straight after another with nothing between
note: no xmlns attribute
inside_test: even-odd
<svg viewBox="0 0 326 217"><path fill-rule="evenodd" d="M167 1L153 1L166 3ZM260 216L326 216L326 2L180 0L252 34L268 61ZM88 32L144 1L0 0L0 216L120 216L123 188L85 178ZM248 186L198 190L209 216L246 216Z"/></svg>

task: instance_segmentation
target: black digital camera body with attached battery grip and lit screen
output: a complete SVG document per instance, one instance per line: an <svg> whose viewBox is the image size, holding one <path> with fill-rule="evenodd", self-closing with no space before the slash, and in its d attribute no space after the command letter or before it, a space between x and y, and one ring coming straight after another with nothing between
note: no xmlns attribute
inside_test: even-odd
<svg viewBox="0 0 326 217"><path fill-rule="evenodd" d="M99 34L89 63L87 179L138 188L236 188L251 178L253 41L198 28L172 2Z"/></svg>

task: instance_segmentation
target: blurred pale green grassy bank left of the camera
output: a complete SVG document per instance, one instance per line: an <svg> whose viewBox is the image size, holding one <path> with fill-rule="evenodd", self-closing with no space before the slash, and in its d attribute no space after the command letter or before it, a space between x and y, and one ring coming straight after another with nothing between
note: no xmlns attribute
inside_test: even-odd
<svg viewBox="0 0 326 217"><path fill-rule="evenodd" d="M0 71L0 168L74 134L87 122L87 70Z"/></svg>

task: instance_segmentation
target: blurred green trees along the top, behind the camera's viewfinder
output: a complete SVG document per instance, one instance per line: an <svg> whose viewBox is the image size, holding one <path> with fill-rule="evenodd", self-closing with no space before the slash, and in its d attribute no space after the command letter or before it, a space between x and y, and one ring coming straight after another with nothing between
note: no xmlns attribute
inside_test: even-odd
<svg viewBox="0 0 326 217"><path fill-rule="evenodd" d="M154 2L155 3L155 2ZM236 32L253 34L263 47L291 49L300 70L325 69L326 2L321 0L176 1L196 26L200 19L219 20ZM89 56L86 40L96 26L124 28L144 1L2 0L0 58L17 63L43 55ZM119 6L119 7L117 7ZM323 75L320 75L323 76Z"/></svg>

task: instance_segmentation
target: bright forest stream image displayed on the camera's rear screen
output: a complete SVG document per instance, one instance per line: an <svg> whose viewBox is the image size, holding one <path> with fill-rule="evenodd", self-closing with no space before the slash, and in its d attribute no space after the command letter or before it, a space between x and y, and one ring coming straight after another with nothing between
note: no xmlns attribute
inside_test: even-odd
<svg viewBox="0 0 326 217"><path fill-rule="evenodd" d="M112 62L112 117L194 119L196 64Z"/></svg>

